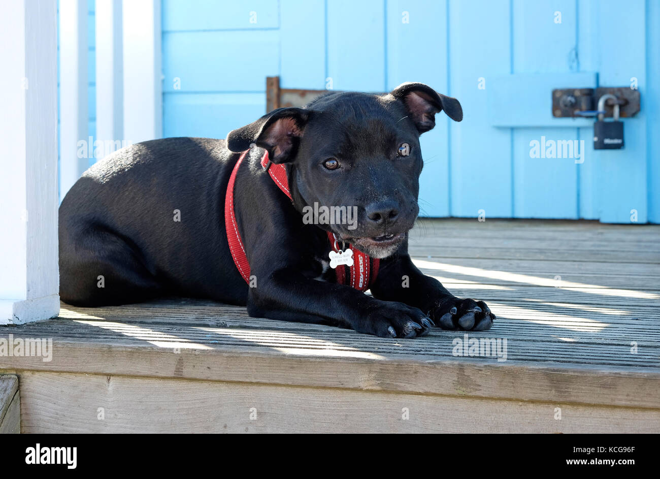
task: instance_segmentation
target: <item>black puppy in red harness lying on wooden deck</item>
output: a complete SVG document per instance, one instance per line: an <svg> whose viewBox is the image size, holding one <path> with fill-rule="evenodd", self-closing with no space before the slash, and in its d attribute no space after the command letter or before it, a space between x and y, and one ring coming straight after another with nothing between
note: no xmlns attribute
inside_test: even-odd
<svg viewBox="0 0 660 479"><path fill-rule="evenodd" d="M59 208L61 299L201 297L247 305L250 316L397 338L422 336L433 322L486 330L495 318L486 304L451 295L407 251L418 139L442 110L463 118L455 98L404 83L384 96L331 92L279 108L226 141L121 149ZM324 207L355 217L332 224L308 214Z"/></svg>

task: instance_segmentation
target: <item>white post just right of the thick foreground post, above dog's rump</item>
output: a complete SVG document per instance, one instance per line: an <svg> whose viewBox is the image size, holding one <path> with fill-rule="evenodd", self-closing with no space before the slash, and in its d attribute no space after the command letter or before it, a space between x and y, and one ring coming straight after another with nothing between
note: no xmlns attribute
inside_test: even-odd
<svg viewBox="0 0 660 479"><path fill-rule="evenodd" d="M59 196L87 169L87 155L78 142L88 141L87 129L87 1L59 2ZM88 145L84 151L94 145ZM81 157L82 156L82 157Z"/></svg>

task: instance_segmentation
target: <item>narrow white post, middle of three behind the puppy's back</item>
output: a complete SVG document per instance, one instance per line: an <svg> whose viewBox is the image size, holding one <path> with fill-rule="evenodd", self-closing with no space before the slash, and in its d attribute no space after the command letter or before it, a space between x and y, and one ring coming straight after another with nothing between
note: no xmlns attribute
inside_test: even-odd
<svg viewBox="0 0 660 479"><path fill-rule="evenodd" d="M96 139L107 155L124 138L121 0L96 0L95 20Z"/></svg>

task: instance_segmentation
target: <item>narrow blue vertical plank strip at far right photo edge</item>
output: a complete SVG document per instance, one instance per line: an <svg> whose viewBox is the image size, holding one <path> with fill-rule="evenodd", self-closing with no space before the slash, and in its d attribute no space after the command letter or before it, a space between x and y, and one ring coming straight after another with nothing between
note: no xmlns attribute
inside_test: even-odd
<svg viewBox="0 0 660 479"><path fill-rule="evenodd" d="M648 220L660 223L660 2L646 2L646 85L644 107L647 116L647 183L649 189Z"/></svg>

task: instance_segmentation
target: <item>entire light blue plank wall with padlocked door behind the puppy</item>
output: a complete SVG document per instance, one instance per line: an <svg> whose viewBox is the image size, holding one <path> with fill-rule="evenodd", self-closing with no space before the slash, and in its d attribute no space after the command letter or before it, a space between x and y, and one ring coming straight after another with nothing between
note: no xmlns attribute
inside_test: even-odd
<svg viewBox="0 0 660 479"><path fill-rule="evenodd" d="M253 121L267 76L359 91L421 81L465 114L422 135L423 215L660 222L658 1L164 0L162 12L166 136ZM623 150L594 151L593 120L552 118L552 89L631 79L642 111L624 120ZM530 156L542 139L583 141L583 157Z"/></svg>

